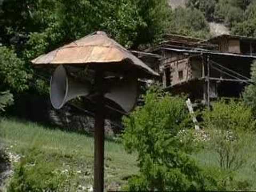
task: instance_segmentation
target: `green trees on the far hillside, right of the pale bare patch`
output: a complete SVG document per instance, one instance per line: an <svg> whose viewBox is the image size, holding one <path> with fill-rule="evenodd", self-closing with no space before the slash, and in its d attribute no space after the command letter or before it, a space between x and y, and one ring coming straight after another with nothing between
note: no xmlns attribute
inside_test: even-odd
<svg viewBox="0 0 256 192"><path fill-rule="evenodd" d="M255 0L189 0L187 6L200 10L208 21L225 23L233 34L256 37Z"/></svg>

